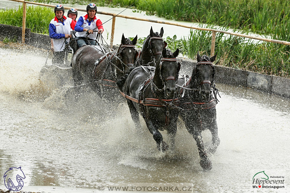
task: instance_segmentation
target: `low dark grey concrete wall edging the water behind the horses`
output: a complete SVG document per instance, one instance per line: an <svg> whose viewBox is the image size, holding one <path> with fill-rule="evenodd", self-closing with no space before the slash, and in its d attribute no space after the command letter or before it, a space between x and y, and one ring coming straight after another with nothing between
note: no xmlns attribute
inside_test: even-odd
<svg viewBox="0 0 290 193"><path fill-rule="evenodd" d="M16 38L21 42L22 27L0 24L0 40L5 37ZM43 34L32 33L25 29L25 43L43 49L50 49L50 37ZM188 75L192 74L192 68L196 61L179 58L179 62ZM251 87L257 90L275 93L290 98L290 79L273 75L260 74L219 65L215 66L215 78L217 82Z"/></svg>

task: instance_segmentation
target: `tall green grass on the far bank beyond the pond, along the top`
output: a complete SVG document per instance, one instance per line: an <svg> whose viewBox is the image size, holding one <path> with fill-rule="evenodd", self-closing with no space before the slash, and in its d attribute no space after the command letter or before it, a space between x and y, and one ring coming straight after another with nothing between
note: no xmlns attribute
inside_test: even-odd
<svg viewBox="0 0 290 193"><path fill-rule="evenodd" d="M45 3L88 4L85 0L37 0ZM127 7L136 0L96 0L98 6ZM140 0L133 8L167 19L230 26L269 34L289 14L289 0ZM290 22L290 21L287 21Z"/></svg>

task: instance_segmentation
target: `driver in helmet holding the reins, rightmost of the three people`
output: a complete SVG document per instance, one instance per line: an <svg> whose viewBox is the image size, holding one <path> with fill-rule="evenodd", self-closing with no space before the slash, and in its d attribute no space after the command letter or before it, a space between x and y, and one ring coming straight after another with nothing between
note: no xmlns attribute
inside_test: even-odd
<svg viewBox="0 0 290 193"><path fill-rule="evenodd" d="M89 43L85 41L85 37L87 33L89 33L89 41L92 45L96 45L97 32L93 32L93 30L98 30L98 33L103 33L104 27L102 25L102 21L96 17L97 6L93 3L87 5L86 8L87 14L79 17L79 20L76 22L75 31L78 47L82 47L88 45ZM98 28L98 29L97 29Z"/></svg>

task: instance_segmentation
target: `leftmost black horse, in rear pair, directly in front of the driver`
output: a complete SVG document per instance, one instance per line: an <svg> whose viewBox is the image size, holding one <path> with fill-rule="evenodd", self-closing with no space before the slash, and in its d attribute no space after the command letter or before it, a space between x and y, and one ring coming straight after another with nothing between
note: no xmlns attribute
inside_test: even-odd
<svg viewBox="0 0 290 193"><path fill-rule="evenodd" d="M137 60L137 36L131 41L122 35L116 53L105 53L100 46L83 46L73 55L72 75L75 86L88 85L104 99L120 96L116 81L129 73Z"/></svg>

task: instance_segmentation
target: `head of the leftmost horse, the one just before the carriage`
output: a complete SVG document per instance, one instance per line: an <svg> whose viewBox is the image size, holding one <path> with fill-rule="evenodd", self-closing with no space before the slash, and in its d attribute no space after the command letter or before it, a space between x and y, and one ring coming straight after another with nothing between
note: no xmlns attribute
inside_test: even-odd
<svg viewBox="0 0 290 193"><path fill-rule="evenodd" d="M139 54L135 48L136 43L137 36L131 41L129 38L125 38L123 33L121 46L116 56L121 59L121 61L118 62L118 68L120 67L124 74L129 73L132 68L134 68L134 65L136 65L135 62Z"/></svg>

